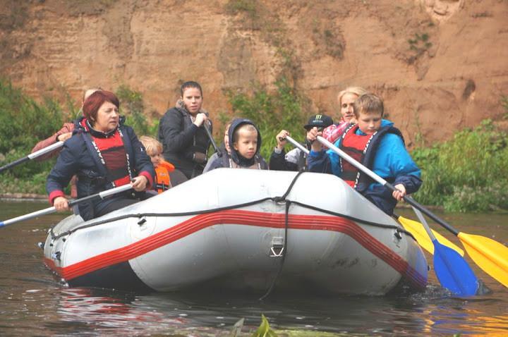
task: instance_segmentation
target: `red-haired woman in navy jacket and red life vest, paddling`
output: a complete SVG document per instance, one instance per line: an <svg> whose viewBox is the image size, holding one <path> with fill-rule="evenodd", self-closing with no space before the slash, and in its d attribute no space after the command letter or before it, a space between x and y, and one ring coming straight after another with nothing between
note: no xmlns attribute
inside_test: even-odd
<svg viewBox="0 0 508 337"><path fill-rule="evenodd" d="M75 122L74 135L63 144L47 178L49 202L56 210L68 209L63 188L78 176L78 197L131 184L143 192L153 183L155 171L134 130L123 125L119 99L112 92L97 91L83 104L83 118ZM85 220L138 202L143 195L124 193L78 205Z"/></svg>

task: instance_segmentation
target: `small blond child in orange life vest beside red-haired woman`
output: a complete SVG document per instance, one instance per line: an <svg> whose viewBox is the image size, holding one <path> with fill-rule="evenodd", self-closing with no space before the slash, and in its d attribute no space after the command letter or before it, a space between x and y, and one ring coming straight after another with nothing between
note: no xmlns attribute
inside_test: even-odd
<svg viewBox="0 0 508 337"><path fill-rule="evenodd" d="M171 188L169 173L174 171L174 165L162 159L162 143L148 136L141 136L139 140L145 147L150 159L152 159L156 173L154 190L159 194L169 190Z"/></svg>

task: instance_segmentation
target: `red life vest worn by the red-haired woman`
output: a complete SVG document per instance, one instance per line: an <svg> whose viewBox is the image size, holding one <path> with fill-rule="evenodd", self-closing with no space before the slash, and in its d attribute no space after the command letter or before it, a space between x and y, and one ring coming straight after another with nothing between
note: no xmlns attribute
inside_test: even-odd
<svg viewBox="0 0 508 337"><path fill-rule="evenodd" d="M106 166L109 180L114 187L127 185L133 178L128 154L123 147L123 135L119 129L109 137L93 137L92 145L95 147L99 159Z"/></svg>

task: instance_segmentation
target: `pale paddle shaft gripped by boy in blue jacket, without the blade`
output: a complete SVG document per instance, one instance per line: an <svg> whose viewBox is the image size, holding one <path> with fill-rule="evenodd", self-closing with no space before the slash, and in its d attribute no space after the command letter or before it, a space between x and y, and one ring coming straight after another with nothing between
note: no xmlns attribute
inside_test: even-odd
<svg viewBox="0 0 508 337"><path fill-rule="evenodd" d="M349 154L346 154L346 152L344 152L341 149L339 149L339 147L336 147L331 142L325 140L325 138L323 138L321 136L317 136L317 140L322 145L325 145L329 149L332 149L334 152L339 154L340 157L342 157L342 158L346 159L347 161L349 161L349 164L355 166L356 169L358 169L358 170L362 171L363 173L367 174L370 178L373 178L375 181L377 181L377 183L380 183L381 185L389 188L389 190L392 190L392 191L396 191L397 190L397 188L395 188L394 185L388 183L387 180L381 178L380 176L377 176L376 173L374 173L370 169L368 169L365 166L363 166L362 164L360 164L358 161L356 161L351 156L349 156ZM416 200L414 200L413 198L404 196L403 199L404 199L405 202L407 202L408 204L411 204L411 206L415 207L416 209L419 209L423 214L425 214L430 219L433 219L434 221L439 223L441 226L446 228L448 231L452 232L454 235L459 235L459 231L457 231L455 228L453 228L451 225L449 225L446 221L440 219L439 216L433 214L433 212L430 212L428 209L426 209L421 204L416 202Z"/></svg>

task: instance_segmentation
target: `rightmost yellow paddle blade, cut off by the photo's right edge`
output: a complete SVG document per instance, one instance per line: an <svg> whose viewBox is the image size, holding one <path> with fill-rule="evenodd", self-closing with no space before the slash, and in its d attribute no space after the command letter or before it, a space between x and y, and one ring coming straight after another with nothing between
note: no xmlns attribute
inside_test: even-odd
<svg viewBox="0 0 508 337"><path fill-rule="evenodd" d="M508 247L485 236L459 233L457 237L473 261L508 288Z"/></svg>

